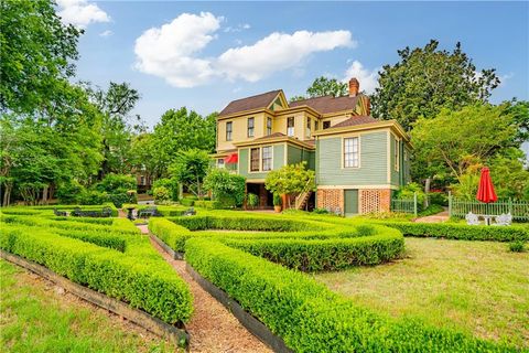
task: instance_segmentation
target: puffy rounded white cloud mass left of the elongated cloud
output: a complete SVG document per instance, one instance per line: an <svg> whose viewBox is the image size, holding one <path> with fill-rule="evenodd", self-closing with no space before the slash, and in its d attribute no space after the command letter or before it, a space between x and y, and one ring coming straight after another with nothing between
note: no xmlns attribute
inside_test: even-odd
<svg viewBox="0 0 529 353"><path fill-rule="evenodd" d="M207 82L214 75L212 63L194 54L214 39L222 21L209 12L182 13L171 23L147 30L136 40L136 67L176 87Z"/></svg>

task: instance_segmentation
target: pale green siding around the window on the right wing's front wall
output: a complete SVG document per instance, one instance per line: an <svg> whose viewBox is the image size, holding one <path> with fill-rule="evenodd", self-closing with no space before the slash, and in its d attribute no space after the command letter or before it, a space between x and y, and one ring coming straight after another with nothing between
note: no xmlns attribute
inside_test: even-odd
<svg viewBox="0 0 529 353"><path fill-rule="evenodd" d="M387 184L387 132L360 136L360 168L342 169L342 137L316 142L316 183L319 185Z"/></svg>

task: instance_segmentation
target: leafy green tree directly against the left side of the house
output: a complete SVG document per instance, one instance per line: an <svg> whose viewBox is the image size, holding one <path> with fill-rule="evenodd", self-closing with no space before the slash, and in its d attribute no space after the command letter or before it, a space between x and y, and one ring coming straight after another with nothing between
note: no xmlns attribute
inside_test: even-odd
<svg viewBox="0 0 529 353"><path fill-rule="evenodd" d="M185 107L165 111L153 132L154 146L159 153L159 169L168 170L182 151L199 149L213 152L216 139L216 116L217 114L214 113L204 118Z"/></svg>

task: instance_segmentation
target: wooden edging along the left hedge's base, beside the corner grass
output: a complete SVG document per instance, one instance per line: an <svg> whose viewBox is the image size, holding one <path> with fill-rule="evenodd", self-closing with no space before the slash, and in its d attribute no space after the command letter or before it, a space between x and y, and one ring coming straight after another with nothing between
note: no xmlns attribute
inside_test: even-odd
<svg viewBox="0 0 529 353"><path fill-rule="evenodd" d="M127 303L107 297L104 293L95 291L90 288L75 284L67 278L64 278L54 271L47 269L44 266L26 260L18 255L10 254L0 249L0 257L19 265L25 269L29 269L36 275L51 280L52 282L63 287L65 290L74 293L75 296L83 298L86 301L91 302L100 308L107 309L118 315L127 318L127 320L134 322L136 324L151 331L152 333L169 339L172 343L179 346L188 346L190 336L185 331L185 327L181 324L181 328L171 325L162 320L154 318L153 315L139 310L130 308Z"/></svg>

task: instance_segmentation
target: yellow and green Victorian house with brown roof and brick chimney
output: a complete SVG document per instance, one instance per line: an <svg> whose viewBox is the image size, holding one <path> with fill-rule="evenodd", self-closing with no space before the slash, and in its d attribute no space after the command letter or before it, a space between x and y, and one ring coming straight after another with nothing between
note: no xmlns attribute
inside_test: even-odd
<svg viewBox="0 0 529 353"><path fill-rule="evenodd" d="M306 161L317 185L307 203L343 214L389 211L391 191L410 181L411 146L397 121L369 113L356 78L344 97L289 104L279 89L234 100L217 118L214 158L247 178L247 192L259 195L261 207L272 206L267 173Z"/></svg>

